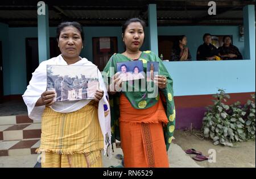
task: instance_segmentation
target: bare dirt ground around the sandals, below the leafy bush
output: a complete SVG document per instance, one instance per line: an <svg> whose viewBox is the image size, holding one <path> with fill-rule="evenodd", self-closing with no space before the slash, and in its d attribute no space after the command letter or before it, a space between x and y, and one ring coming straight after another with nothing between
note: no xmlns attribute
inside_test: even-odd
<svg viewBox="0 0 256 179"><path fill-rule="evenodd" d="M203 152L203 155L209 155L209 149L216 150L216 163L205 161L196 161L197 164L204 167L254 167L255 168L255 141L243 141L234 143L233 147L224 145L213 145L208 139L200 140L194 134L199 131L176 130L175 144L180 145L183 150L194 148L197 151ZM195 155L190 155L191 157Z"/></svg>

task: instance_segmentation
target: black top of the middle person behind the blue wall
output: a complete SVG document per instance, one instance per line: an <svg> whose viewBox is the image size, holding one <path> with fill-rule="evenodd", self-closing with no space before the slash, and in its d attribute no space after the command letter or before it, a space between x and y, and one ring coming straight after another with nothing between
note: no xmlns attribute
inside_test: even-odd
<svg viewBox="0 0 256 179"><path fill-rule="evenodd" d="M218 56L218 49L213 45L206 43L197 48L196 60L207 60L207 57Z"/></svg>

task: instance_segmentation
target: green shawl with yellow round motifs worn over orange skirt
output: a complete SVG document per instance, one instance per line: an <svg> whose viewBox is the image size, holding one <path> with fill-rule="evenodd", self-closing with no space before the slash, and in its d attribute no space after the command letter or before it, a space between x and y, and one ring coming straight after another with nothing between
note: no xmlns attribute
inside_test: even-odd
<svg viewBox="0 0 256 179"><path fill-rule="evenodd" d="M148 98L147 96L152 94L151 90L148 91L148 89L146 88L146 90L142 91L141 85L139 85L140 89L135 89L133 83L128 81L123 83L122 86L125 84L126 89L132 88L133 91L121 91L121 93L123 93L126 96L126 98L129 100L129 102L135 109L147 109L148 107L154 106L156 102L158 102L159 97L163 97L163 100L162 100L163 106L166 111L166 116L168 118L168 123L163 127L163 130L164 130L164 140L166 143L166 149L168 150L168 148L170 147L172 136L174 134L174 129L175 129L174 90L172 88L173 81L170 74L167 72L167 69L165 68L162 60L160 60L159 57L156 56L153 52L151 51L142 52L138 60L142 60L144 73L146 73L148 61L159 62L158 73L159 75L167 77L167 87L164 89L159 89L158 94L155 95L154 98L151 98L151 97ZM126 62L126 61L133 61L133 60L119 53L114 54L110 58L108 64L104 68L104 73L107 74L108 76L107 78L104 78L106 84L110 84L109 83L110 79L115 73L117 73L117 63ZM111 69L114 69L114 72ZM141 82L139 82L139 84L141 84ZM147 82L147 85L152 85L152 82ZM121 141L120 133L119 133L119 97L120 97L120 93L109 95L111 127L112 127L112 143L115 142L115 139Z"/></svg>

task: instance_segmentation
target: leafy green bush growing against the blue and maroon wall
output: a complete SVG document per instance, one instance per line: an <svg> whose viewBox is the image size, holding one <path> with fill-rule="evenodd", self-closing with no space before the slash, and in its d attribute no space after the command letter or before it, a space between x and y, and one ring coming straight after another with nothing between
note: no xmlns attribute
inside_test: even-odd
<svg viewBox="0 0 256 179"><path fill-rule="evenodd" d="M244 107L240 102L226 105L224 102L230 96L223 89L218 89L218 92L213 95L216 98L214 105L208 106L204 114L204 137L212 139L214 145L229 146L233 146L234 141L255 139L255 103L247 102Z"/></svg>

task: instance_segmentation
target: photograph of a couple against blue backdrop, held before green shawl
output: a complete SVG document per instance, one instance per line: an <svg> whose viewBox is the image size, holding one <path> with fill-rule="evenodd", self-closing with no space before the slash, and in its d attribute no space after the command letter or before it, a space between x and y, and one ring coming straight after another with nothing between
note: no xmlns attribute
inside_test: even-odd
<svg viewBox="0 0 256 179"><path fill-rule="evenodd" d="M139 80L145 78L141 60L117 63L119 78L122 81Z"/></svg>

